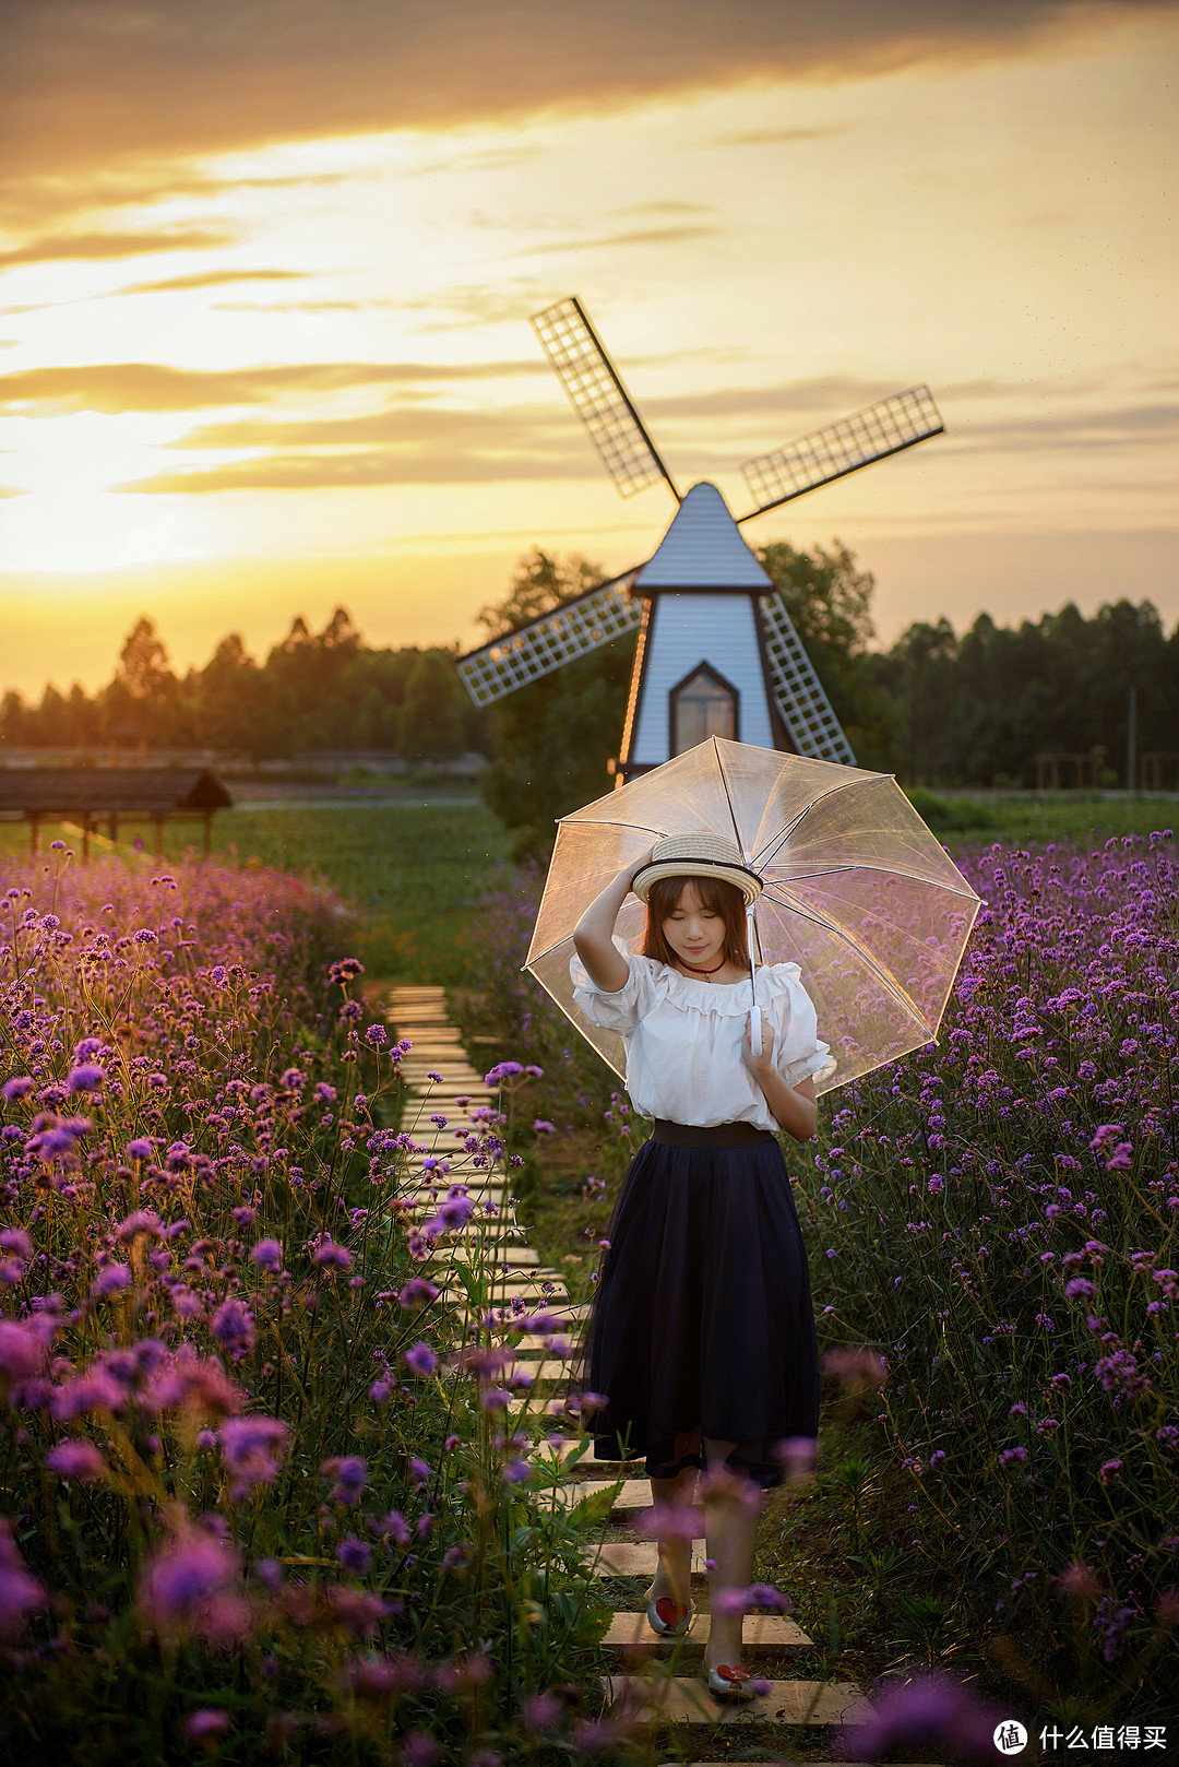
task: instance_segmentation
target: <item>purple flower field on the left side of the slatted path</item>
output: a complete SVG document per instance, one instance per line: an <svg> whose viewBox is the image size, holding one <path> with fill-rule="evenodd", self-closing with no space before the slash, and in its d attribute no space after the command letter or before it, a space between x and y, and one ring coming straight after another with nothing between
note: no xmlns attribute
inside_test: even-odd
<svg viewBox="0 0 1179 1767"><path fill-rule="evenodd" d="M408 1214L405 1050L339 901L65 855L2 882L0 1753L495 1767L555 1686L576 1748L592 1505L544 1500L481 1256L467 1332L422 1269L474 1205Z"/></svg>

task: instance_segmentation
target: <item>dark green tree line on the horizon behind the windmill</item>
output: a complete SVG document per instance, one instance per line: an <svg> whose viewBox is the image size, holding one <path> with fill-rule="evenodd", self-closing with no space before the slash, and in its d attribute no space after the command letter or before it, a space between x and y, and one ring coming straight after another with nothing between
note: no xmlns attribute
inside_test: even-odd
<svg viewBox="0 0 1179 1767"><path fill-rule="evenodd" d="M861 767L905 785L1032 786L1039 753L1098 753L1098 781L1124 785L1130 693L1137 751L1179 751L1179 626L1149 601L1121 599L1085 618L1071 603L1020 626L979 615L910 626L875 643L875 580L840 542L758 548L847 730ZM488 638L603 581L582 557L534 548L502 601L484 606ZM129 633L111 680L94 694L46 687L28 705L0 698L5 746L212 747L256 758L308 749L396 749L435 760L490 756L484 793L543 852L553 818L610 788L635 652L633 634L574 659L477 710L449 648L371 648L338 608L322 633L295 618L256 663L230 634L209 663L177 675L152 622Z"/></svg>

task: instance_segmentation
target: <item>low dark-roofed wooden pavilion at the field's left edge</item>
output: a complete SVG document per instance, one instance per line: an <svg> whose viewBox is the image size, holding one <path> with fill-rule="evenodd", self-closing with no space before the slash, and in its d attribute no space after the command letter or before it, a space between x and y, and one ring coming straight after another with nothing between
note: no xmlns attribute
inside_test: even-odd
<svg viewBox="0 0 1179 1767"><path fill-rule="evenodd" d="M164 822L200 818L209 859L214 811L232 806L226 788L203 767L0 767L0 816L28 822L34 853L41 848L42 822L69 818L81 829L83 859L90 857L90 836L103 822L111 841L118 839L120 823L150 823L161 857Z"/></svg>

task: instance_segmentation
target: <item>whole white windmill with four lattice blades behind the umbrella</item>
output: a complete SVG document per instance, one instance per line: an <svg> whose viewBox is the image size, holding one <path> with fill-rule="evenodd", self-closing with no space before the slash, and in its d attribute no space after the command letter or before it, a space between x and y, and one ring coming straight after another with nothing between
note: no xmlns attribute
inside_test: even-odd
<svg viewBox="0 0 1179 1767"><path fill-rule="evenodd" d="M645 564L460 657L470 698L491 705L638 627L626 726L612 763L617 785L712 735L856 765L741 523L940 435L930 389L896 392L748 459L741 470L755 507L734 518L714 484L681 495L576 295L530 323L622 497L663 479L677 511Z"/></svg>

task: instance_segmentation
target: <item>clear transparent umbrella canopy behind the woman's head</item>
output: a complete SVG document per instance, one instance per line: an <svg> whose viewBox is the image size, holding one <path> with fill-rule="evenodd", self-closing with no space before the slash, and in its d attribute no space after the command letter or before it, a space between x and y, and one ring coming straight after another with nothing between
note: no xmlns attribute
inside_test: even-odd
<svg viewBox="0 0 1179 1767"><path fill-rule="evenodd" d="M820 1092L937 1035L981 903L896 779L709 737L557 825L525 968L619 1076L622 1037L573 1004L573 929L622 866L693 830L735 839L765 880L755 954L802 972L838 1064ZM628 896L615 937L638 951L645 924Z"/></svg>

